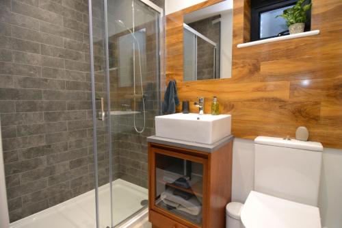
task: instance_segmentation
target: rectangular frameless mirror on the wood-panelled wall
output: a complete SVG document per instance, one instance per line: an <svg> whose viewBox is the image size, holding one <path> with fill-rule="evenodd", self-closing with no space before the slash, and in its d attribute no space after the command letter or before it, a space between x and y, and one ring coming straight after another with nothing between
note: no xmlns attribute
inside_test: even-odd
<svg viewBox="0 0 342 228"><path fill-rule="evenodd" d="M184 81L231 77L233 0L184 15Z"/></svg>

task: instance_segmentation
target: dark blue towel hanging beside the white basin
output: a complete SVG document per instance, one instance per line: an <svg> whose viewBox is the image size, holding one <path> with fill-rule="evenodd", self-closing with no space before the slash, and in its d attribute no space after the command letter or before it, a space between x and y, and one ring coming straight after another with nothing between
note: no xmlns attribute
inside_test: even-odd
<svg viewBox="0 0 342 228"><path fill-rule="evenodd" d="M176 105L179 105L179 99L176 81L172 80L169 81L168 88L166 88L161 110L163 111L163 114L174 114L176 112Z"/></svg>

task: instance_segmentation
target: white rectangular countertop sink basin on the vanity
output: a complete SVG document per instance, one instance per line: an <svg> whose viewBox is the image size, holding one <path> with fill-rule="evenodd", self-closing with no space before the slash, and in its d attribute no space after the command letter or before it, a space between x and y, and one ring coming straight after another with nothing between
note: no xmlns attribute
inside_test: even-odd
<svg viewBox="0 0 342 228"><path fill-rule="evenodd" d="M213 144L231 134L231 115L177 113L156 116L155 134L163 138Z"/></svg>

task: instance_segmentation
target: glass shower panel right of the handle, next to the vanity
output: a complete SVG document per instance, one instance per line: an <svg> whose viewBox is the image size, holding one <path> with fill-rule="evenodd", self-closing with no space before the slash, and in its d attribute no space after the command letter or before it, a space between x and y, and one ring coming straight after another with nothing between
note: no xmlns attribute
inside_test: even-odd
<svg viewBox="0 0 342 228"><path fill-rule="evenodd" d="M154 116L160 112L161 14L139 0L108 1L107 12L112 214L118 225L148 205L146 137L155 133Z"/></svg>

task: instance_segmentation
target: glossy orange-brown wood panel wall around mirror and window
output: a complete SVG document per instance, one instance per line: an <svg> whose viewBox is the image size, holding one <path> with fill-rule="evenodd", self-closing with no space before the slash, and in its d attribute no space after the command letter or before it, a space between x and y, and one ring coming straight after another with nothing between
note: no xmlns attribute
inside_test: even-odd
<svg viewBox="0 0 342 228"><path fill-rule="evenodd" d="M321 34L237 49L249 40L248 0L234 0L233 77L183 82L183 14L218 3L208 0L166 16L166 77L176 79L181 100L205 97L205 113L218 96L232 114L239 138L295 136L342 148L342 1L312 0L311 29ZM192 106L192 112L198 112Z"/></svg>

